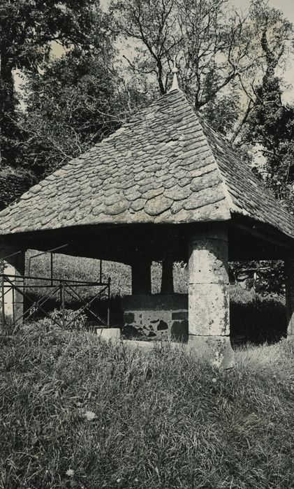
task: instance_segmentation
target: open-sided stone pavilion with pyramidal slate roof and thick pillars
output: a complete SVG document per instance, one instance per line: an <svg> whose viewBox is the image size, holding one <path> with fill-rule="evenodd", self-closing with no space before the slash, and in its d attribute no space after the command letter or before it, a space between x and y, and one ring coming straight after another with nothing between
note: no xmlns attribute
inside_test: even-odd
<svg viewBox="0 0 294 489"><path fill-rule="evenodd" d="M180 330L188 316L189 346L218 365L233 354L228 262L283 259L294 335L294 219L175 85L3 210L0 235L2 257L21 250L8 258L20 280L27 249L64 243L131 265L124 323ZM152 261L163 263L156 295ZM189 298L173 292L175 261L189 262Z"/></svg>

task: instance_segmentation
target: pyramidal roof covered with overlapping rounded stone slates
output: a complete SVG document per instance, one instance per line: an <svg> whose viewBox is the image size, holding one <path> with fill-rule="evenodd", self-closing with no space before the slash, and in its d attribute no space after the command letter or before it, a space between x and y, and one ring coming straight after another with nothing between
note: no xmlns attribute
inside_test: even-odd
<svg viewBox="0 0 294 489"><path fill-rule="evenodd" d="M0 234L242 214L294 237L294 220L173 90L0 212Z"/></svg>

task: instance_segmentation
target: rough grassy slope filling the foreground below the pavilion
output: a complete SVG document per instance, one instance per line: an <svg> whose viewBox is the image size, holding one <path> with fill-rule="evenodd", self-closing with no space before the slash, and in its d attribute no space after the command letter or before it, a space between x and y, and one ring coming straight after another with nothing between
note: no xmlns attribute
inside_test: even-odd
<svg viewBox="0 0 294 489"><path fill-rule="evenodd" d="M1 339L1 488L294 487L294 351L222 372L44 323Z"/></svg>

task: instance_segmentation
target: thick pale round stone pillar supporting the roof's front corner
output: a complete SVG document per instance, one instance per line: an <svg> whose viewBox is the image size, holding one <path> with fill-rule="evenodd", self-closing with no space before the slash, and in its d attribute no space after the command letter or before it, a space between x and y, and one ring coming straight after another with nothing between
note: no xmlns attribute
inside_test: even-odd
<svg viewBox="0 0 294 489"><path fill-rule="evenodd" d="M234 360L228 288L227 226L210 224L189 244L189 346L224 368Z"/></svg>

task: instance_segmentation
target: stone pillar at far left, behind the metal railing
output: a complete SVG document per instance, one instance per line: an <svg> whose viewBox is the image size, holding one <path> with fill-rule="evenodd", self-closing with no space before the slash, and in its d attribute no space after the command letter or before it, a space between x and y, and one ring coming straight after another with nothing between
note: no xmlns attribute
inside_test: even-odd
<svg viewBox="0 0 294 489"><path fill-rule="evenodd" d="M20 253L17 253L20 251ZM15 254L17 253L17 254ZM12 255L12 256L9 256ZM6 259L3 258L8 257ZM23 287L23 279L20 275L24 275L24 251L20 250L15 246L6 245L0 243L0 265L3 269L4 274L13 275L14 277L10 278L11 282L17 286L18 289L22 290ZM2 272L2 270L1 270ZM6 318L10 318L11 320L17 321L18 318L22 316L24 313L24 298L21 293L17 291L9 290L10 284L7 281L3 280L3 291L2 291L2 282L1 282L1 290L0 290L0 329L5 330L5 324L3 324L3 302L2 302L2 293L4 294L4 314ZM18 321L17 326L20 326L22 321Z"/></svg>

